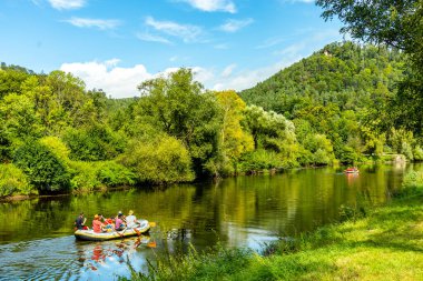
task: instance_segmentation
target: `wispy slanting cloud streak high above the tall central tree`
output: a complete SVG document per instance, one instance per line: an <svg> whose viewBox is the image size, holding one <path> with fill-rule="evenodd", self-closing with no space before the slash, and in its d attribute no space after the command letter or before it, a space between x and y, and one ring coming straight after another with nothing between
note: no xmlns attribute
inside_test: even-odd
<svg viewBox="0 0 423 281"><path fill-rule="evenodd" d="M184 42L196 42L203 33L201 28L190 24L179 24L173 21L158 21L153 17L146 19L146 24L168 36L178 37Z"/></svg>

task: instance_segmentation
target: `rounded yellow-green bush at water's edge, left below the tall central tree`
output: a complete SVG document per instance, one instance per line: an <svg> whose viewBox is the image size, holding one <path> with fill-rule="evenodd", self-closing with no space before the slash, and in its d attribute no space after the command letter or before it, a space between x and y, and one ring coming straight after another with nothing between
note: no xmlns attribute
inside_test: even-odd
<svg viewBox="0 0 423 281"><path fill-rule="evenodd" d="M171 183L194 180L188 150L168 136L134 141L120 158L140 182Z"/></svg>

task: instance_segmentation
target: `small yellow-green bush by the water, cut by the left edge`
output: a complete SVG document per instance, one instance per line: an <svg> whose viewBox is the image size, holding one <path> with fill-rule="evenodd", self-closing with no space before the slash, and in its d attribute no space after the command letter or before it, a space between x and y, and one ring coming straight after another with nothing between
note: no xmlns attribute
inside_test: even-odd
<svg viewBox="0 0 423 281"><path fill-rule="evenodd" d="M0 197L36 193L27 175L14 164L0 164Z"/></svg>

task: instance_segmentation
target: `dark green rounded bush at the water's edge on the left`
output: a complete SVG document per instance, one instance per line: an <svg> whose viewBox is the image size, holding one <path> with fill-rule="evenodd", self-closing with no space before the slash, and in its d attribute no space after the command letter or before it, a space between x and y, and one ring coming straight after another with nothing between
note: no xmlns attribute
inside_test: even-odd
<svg viewBox="0 0 423 281"><path fill-rule="evenodd" d="M40 192L66 191L69 188L69 173L65 164L38 141L28 141L18 148L13 163Z"/></svg>

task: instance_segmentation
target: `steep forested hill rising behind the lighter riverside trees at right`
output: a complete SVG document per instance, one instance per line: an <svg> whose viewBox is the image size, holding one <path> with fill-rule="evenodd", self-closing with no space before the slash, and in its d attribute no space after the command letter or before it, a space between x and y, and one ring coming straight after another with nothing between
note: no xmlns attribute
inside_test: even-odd
<svg viewBox="0 0 423 281"><path fill-rule="evenodd" d="M403 64L403 54L396 50L336 42L239 96L248 104L289 119L309 106L331 103L341 111L357 111L393 94Z"/></svg>

